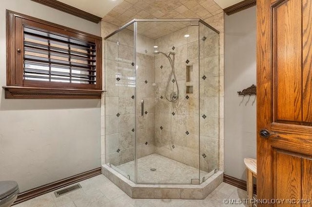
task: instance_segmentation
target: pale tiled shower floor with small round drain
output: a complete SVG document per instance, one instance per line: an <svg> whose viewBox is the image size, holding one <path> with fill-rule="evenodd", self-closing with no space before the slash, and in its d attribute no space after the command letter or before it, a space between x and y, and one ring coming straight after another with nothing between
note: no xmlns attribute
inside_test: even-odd
<svg viewBox="0 0 312 207"><path fill-rule="evenodd" d="M154 168L156 171L151 171ZM133 180L135 161L116 166L119 173L130 175ZM209 178L213 172L200 171L200 180ZM158 154L147 155L137 159L137 183L152 184L190 184L191 179L199 178L199 170Z"/></svg>

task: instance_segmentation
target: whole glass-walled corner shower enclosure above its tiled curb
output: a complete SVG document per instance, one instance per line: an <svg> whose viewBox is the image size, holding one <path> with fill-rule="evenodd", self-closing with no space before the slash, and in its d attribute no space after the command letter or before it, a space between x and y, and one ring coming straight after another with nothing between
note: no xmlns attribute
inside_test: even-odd
<svg viewBox="0 0 312 207"><path fill-rule="evenodd" d="M105 163L136 184L201 184L219 165L219 32L135 19L105 37Z"/></svg>

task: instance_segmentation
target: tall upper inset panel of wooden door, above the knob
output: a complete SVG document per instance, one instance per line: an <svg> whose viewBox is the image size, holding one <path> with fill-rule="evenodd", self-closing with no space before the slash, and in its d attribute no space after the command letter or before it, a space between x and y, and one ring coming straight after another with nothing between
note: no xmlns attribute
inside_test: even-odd
<svg viewBox="0 0 312 207"><path fill-rule="evenodd" d="M302 121L301 0L280 1L272 8L275 117Z"/></svg>

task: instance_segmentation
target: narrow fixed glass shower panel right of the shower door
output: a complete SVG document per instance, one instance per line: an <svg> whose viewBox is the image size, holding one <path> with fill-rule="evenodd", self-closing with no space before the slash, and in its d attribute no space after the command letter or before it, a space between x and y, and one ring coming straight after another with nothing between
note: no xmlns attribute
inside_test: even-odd
<svg viewBox="0 0 312 207"><path fill-rule="evenodd" d="M211 172L219 163L219 35L199 26L200 169Z"/></svg>

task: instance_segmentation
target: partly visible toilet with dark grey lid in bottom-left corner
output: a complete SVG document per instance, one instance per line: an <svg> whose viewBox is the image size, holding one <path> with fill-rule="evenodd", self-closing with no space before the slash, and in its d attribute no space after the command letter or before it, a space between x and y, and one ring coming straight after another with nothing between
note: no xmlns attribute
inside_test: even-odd
<svg viewBox="0 0 312 207"><path fill-rule="evenodd" d="M20 190L15 181L0 181L0 207L10 207L18 197Z"/></svg>

